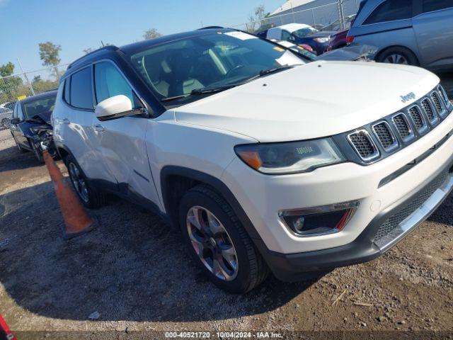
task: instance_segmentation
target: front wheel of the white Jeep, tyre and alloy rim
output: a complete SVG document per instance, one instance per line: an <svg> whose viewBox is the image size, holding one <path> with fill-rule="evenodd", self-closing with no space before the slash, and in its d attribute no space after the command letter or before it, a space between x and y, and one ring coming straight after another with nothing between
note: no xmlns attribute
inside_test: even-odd
<svg viewBox="0 0 453 340"><path fill-rule="evenodd" d="M180 202L180 227L195 262L220 288L246 293L269 269L231 207L207 186L190 189Z"/></svg>

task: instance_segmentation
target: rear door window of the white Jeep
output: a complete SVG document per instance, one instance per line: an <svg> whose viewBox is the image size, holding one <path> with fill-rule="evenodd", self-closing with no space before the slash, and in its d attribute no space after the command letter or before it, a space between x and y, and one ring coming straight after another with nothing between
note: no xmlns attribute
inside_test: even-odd
<svg viewBox="0 0 453 340"><path fill-rule="evenodd" d="M91 91L91 67L86 67L71 76L71 106L93 110L93 91Z"/></svg>

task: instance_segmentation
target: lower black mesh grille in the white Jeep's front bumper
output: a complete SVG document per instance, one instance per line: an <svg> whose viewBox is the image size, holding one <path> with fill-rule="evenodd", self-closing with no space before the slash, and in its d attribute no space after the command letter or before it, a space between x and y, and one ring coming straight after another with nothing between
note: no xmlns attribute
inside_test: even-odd
<svg viewBox="0 0 453 340"><path fill-rule="evenodd" d="M379 227L377 233L374 235L373 242L376 244L385 244L386 242L390 242L391 239L386 239L389 234L392 234L396 229L398 229L401 222L406 220L406 218L411 216L413 212L418 210L418 208L429 200L432 194L435 193L437 189L441 188L449 178L449 172L445 171L431 181L431 183L423 191L418 193L418 195L413 198L411 203L389 217L389 219L386 220L381 227ZM382 242L384 239L386 239L385 242Z"/></svg>

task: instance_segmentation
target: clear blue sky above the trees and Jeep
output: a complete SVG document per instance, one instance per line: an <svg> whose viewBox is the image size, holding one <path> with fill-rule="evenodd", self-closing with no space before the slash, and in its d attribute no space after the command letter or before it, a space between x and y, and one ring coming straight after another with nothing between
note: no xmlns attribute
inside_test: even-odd
<svg viewBox="0 0 453 340"><path fill-rule="evenodd" d="M274 11L285 0L0 0L0 65L13 62L20 73L42 69L38 43L61 45L62 64L88 47L121 46L142 40L148 28L163 35L201 26L248 21L260 4Z"/></svg>

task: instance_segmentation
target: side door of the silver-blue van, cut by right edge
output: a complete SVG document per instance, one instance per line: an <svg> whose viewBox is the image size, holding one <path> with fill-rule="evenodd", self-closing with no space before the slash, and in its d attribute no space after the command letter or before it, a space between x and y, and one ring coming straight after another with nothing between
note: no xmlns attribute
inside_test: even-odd
<svg viewBox="0 0 453 340"><path fill-rule="evenodd" d="M416 1L418 2L418 1ZM453 0L421 0L413 29L426 67L453 64Z"/></svg>

